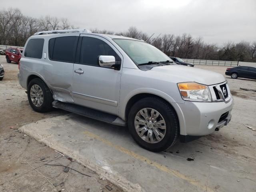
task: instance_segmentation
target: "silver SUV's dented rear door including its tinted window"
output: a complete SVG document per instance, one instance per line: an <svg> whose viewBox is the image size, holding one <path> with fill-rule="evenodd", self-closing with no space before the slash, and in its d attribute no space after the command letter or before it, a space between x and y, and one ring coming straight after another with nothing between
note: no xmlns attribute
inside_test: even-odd
<svg viewBox="0 0 256 192"><path fill-rule="evenodd" d="M43 73L53 91L54 100L73 102L73 64L78 38L79 34L63 34L49 40L48 62Z"/></svg>

